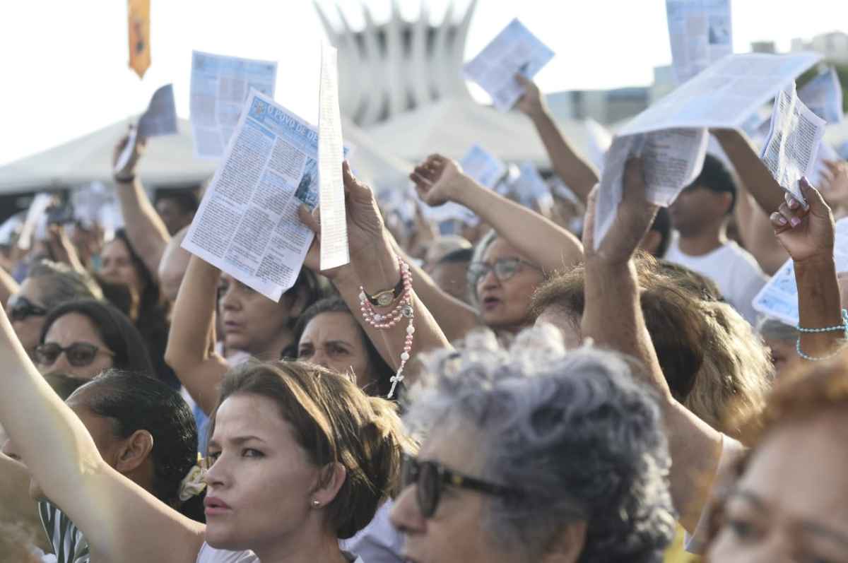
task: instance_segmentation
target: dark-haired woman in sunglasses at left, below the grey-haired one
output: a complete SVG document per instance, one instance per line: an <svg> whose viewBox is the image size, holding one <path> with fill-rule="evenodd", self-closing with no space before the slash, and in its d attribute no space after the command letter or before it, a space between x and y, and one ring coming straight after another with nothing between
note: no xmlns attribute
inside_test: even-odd
<svg viewBox="0 0 848 563"><path fill-rule="evenodd" d="M147 346L132 322L112 305L71 301L44 318L36 365L43 374L91 379L109 368L155 376Z"/></svg>

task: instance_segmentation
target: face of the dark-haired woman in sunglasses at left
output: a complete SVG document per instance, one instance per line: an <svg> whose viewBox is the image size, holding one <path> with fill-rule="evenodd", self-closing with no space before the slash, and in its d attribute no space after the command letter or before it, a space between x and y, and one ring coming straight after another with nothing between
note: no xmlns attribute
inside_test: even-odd
<svg viewBox="0 0 848 563"><path fill-rule="evenodd" d="M36 365L43 375L64 373L92 379L114 367L113 351L103 342L97 327L86 315L68 313L60 316L44 335L44 344L46 349L59 347L64 348L64 351L53 361L44 360L41 354L36 353Z"/></svg>

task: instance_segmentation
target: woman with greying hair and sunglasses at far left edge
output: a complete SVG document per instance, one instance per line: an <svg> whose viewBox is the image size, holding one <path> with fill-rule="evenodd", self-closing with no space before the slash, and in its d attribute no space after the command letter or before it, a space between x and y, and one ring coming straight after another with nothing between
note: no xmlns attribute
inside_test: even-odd
<svg viewBox="0 0 848 563"><path fill-rule="evenodd" d="M36 262L26 279L6 304L6 313L20 343L35 357L44 319L53 307L76 299L102 298L98 285L90 278L53 262Z"/></svg>

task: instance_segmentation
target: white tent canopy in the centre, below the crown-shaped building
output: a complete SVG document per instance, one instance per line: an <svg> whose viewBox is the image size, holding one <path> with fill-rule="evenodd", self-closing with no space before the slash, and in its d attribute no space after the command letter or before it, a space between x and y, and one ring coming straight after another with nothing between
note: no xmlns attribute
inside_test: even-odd
<svg viewBox="0 0 848 563"><path fill-rule="evenodd" d="M579 152L587 153L589 137L585 125L568 120L558 121L557 125ZM548 153L526 115L517 111L502 113L470 99L443 99L366 131L378 147L412 162L431 153L461 159L471 145L479 144L502 160L530 160L550 166Z"/></svg>

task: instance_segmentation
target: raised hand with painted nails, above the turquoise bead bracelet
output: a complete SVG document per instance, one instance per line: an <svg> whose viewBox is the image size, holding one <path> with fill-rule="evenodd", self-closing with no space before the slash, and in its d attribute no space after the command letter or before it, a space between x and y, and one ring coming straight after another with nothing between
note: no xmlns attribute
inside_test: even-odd
<svg viewBox="0 0 848 563"><path fill-rule="evenodd" d="M809 208L786 196L770 219L774 235L795 262L834 256L834 215L822 194L806 178L798 182Z"/></svg>

